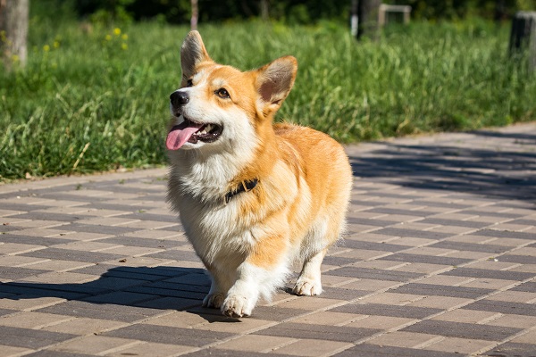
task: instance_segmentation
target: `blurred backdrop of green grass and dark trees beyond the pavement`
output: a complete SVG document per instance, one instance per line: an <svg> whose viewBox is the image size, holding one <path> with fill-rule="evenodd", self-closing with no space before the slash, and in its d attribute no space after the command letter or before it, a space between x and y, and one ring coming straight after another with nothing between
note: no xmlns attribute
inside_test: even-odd
<svg viewBox="0 0 536 357"><path fill-rule="evenodd" d="M6 10L15 3L26 14ZM534 25L513 49L521 11ZM0 0L0 182L164 165L192 28L243 71L295 55L276 120L342 143L536 120L534 11L536 0Z"/></svg>

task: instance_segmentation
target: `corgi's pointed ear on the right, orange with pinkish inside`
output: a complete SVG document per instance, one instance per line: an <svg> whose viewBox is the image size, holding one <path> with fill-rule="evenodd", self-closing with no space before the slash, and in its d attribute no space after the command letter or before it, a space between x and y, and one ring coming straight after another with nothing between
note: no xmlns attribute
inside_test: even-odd
<svg viewBox="0 0 536 357"><path fill-rule="evenodd" d="M276 112L294 86L297 60L293 56L284 56L256 71L256 88L262 101L264 115Z"/></svg>

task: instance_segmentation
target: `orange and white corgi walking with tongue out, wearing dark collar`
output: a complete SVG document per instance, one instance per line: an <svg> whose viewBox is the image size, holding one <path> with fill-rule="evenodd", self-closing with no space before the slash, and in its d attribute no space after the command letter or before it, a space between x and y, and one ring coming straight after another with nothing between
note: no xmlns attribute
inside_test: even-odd
<svg viewBox="0 0 536 357"><path fill-rule="evenodd" d="M180 62L165 140L167 200L210 273L203 306L249 316L295 262L303 268L293 293L321 294L322 260L344 231L353 175L328 135L273 123L297 60L239 71L214 62L191 31Z"/></svg>

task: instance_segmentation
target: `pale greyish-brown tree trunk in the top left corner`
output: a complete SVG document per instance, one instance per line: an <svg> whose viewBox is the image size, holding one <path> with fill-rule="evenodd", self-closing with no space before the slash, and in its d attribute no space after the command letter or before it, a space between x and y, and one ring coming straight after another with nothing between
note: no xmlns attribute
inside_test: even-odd
<svg viewBox="0 0 536 357"><path fill-rule="evenodd" d="M0 35L4 67L11 70L14 62L26 64L28 56L29 0L0 0Z"/></svg>

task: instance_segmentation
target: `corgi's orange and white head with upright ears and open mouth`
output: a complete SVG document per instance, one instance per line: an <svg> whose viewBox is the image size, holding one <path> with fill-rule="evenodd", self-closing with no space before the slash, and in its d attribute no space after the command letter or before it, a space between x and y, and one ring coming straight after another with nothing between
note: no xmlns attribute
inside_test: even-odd
<svg viewBox="0 0 536 357"><path fill-rule="evenodd" d="M259 130L271 128L273 114L289 95L297 71L292 56L246 72L217 64L197 31L184 40L180 62L180 89L170 95L168 150L255 147Z"/></svg>

